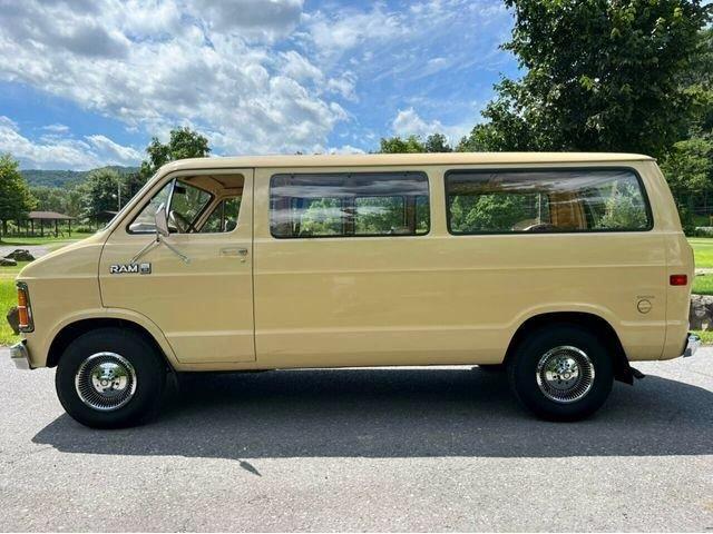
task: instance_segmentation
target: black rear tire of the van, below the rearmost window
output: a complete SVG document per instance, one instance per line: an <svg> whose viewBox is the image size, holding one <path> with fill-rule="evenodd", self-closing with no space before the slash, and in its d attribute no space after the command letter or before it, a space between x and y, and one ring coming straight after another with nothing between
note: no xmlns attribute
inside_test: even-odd
<svg viewBox="0 0 713 534"><path fill-rule="evenodd" d="M548 380L544 369L538 368L540 364L557 367L557 363L568 365L573 360L577 362L578 378L565 369L561 374L550 373ZM508 358L508 379L520 404L538 417L579 421L596 412L609 396L614 368L612 356L594 333L577 325L556 325L533 332L515 347Z"/></svg>

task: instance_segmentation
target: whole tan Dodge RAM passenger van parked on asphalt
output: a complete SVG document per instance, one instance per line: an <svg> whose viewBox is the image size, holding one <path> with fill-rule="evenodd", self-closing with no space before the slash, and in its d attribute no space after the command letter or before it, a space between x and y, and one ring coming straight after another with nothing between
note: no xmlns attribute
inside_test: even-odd
<svg viewBox="0 0 713 534"><path fill-rule="evenodd" d="M645 156L192 159L22 270L11 357L98 427L144 419L167 372L455 364L578 419L631 362L693 353L692 277Z"/></svg>

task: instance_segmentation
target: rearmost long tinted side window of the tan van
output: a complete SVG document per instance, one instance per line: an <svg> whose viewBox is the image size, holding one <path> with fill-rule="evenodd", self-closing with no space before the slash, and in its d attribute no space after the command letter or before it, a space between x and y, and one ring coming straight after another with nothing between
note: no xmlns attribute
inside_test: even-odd
<svg viewBox="0 0 713 534"><path fill-rule="evenodd" d="M641 231L652 217L631 169L449 171L451 234Z"/></svg>

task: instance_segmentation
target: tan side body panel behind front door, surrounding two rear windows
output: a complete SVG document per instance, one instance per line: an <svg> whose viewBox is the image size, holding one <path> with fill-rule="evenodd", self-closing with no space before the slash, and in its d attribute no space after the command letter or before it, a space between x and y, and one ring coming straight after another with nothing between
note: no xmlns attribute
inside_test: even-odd
<svg viewBox="0 0 713 534"><path fill-rule="evenodd" d="M638 170L647 190L656 180L638 164L613 165ZM321 239L270 235L270 177L285 169L257 169L258 364L500 363L518 327L551 312L597 315L616 330L629 359L661 357L667 296L666 248L655 208L661 185L649 192L651 231L451 236L443 175L457 168L473 166L390 168L428 172L429 235ZM644 299L651 309L642 313Z"/></svg>

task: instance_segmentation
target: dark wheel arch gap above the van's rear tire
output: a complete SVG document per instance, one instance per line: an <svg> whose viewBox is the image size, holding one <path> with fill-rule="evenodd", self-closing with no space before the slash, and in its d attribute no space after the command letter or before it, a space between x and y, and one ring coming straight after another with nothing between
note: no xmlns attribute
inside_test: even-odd
<svg viewBox="0 0 713 534"><path fill-rule="evenodd" d="M585 327L604 340L612 355L614 377L626 384L634 384L634 374L628 364L626 352L614 327L603 317L587 312L551 312L529 317L512 335L505 354L505 364L512 356L515 348L534 330L548 325L576 325Z"/></svg>

